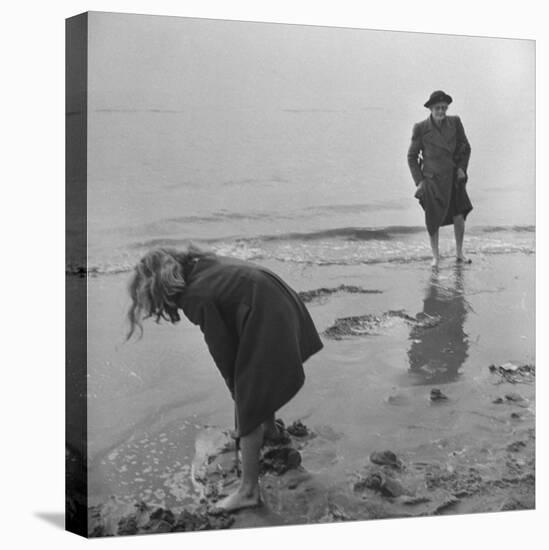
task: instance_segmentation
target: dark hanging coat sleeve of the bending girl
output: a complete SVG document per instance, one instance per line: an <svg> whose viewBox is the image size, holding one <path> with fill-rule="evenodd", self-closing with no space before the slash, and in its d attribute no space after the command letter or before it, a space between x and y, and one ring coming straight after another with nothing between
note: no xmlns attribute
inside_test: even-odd
<svg viewBox="0 0 549 550"><path fill-rule="evenodd" d="M198 325L204 341L225 384L234 398L234 365L237 342L229 331L219 309L212 300L189 300L184 308L188 319Z"/></svg>

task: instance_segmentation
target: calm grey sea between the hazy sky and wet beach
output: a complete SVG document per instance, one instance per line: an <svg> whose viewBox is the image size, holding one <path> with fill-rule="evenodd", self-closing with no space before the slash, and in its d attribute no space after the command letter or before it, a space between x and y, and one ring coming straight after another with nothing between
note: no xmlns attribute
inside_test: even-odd
<svg viewBox="0 0 549 550"><path fill-rule="evenodd" d="M428 237L406 163L414 121L399 121L397 136L372 131L398 120L393 115L382 108L90 113L88 271L126 272L152 247L189 241L252 261L423 261ZM533 253L531 163L525 157L521 168L509 145L479 142L480 130L473 125L469 137L467 251ZM443 253L452 239L452 228L443 228Z"/></svg>

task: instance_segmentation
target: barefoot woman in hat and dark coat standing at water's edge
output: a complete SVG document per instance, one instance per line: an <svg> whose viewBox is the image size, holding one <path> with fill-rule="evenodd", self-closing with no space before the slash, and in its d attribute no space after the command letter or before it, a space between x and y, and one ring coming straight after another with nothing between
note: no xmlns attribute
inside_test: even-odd
<svg viewBox="0 0 549 550"><path fill-rule="evenodd" d="M452 98L437 90L424 104L431 114L414 124L408 149L408 166L417 186L415 197L425 211L425 225L433 252L432 266L438 267L439 227L454 225L456 260L470 263L463 255L465 219L473 209L465 184L471 146L458 116L446 111Z"/></svg>

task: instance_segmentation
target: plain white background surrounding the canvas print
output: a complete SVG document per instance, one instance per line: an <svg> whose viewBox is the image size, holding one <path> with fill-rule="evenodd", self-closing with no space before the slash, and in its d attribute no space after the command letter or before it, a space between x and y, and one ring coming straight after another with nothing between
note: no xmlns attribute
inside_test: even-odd
<svg viewBox="0 0 549 550"><path fill-rule="evenodd" d="M118 11L247 21L453 33L537 41L537 242L547 238L549 97L547 24L542 3L306 2L231 0L10 2L2 10L2 290L4 546L22 543L80 548L84 539L62 530L64 507L64 19ZM488 100L487 100L488 101ZM489 105L487 105L487 108ZM7 123L7 125L6 125ZM520 185L520 182L517 182ZM545 208L544 208L545 207ZM546 248L546 247L545 247ZM384 520L156 535L158 548L388 547L498 549L531 544L542 535L547 494L547 253L537 246L538 491L535 512L506 512L418 520ZM5 280L4 277L8 279ZM6 303L6 299L8 302ZM7 344L7 345L6 345ZM545 348L545 349L544 349ZM147 536L95 544L149 548Z"/></svg>

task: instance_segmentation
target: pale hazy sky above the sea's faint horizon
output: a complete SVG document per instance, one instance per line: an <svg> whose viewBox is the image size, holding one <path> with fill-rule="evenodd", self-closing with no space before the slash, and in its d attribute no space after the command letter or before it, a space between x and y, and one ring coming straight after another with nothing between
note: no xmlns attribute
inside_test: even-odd
<svg viewBox="0 0 549 550"><path fill-rule="evenodd" d="M534 107L534 42L335 27L90 14L98 108L417 112L434 89L470 116Z"/></svg>

